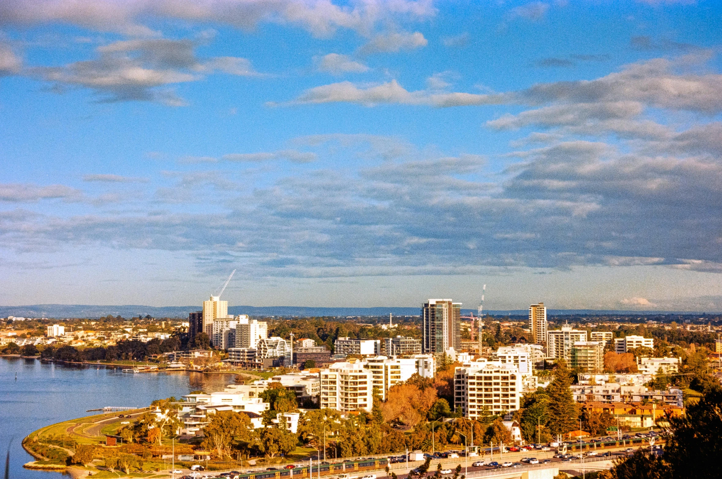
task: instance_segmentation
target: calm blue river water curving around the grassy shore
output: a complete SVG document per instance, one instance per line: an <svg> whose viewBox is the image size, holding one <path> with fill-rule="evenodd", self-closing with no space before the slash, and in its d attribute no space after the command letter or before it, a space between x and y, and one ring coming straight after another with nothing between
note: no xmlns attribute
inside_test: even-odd
<svg viewBox="0 0 722 479"><path fill-rule="evenodd" d="M16 379L17 375L17 379ZM163 397L222 391L234 376L190 371L129 374L103 366L66 366L35 359L0 358L0 452L10 451L11 479L54 479L57 472L27 470L27 434L104 406L144 407ZM97 414L97 413L95 413ZM2 465L4 472L4 464Z"/></svg>

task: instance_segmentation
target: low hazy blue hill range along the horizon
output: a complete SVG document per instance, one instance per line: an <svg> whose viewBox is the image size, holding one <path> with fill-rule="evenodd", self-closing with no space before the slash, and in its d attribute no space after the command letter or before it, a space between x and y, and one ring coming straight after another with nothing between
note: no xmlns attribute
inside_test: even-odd
<svg viewBox="0 0 722 479"><path fill-rule="evenodd" d="M191 311L200 311L200 306L95 306L84 304L35 304L31 306L0 306L0 317L19 316L25 318L100 318L101 316L123 316L132 318L134 316L146 316L149 314L154 318L187 318ZM419 316L420 308L313 308L307 306L231 306L229 314L248 314L250 316ZM461 314L468 316L469 313L476 314L476 309L462 309ZM484 311L494 316L526 316L526 309L514 309L509 311ZM549 316L593 316L604 315L635 315L635 316L656 316L660 314L683 314L696 315L695 312L680 311L604 311L591 309L550 309Z"/></svg>

